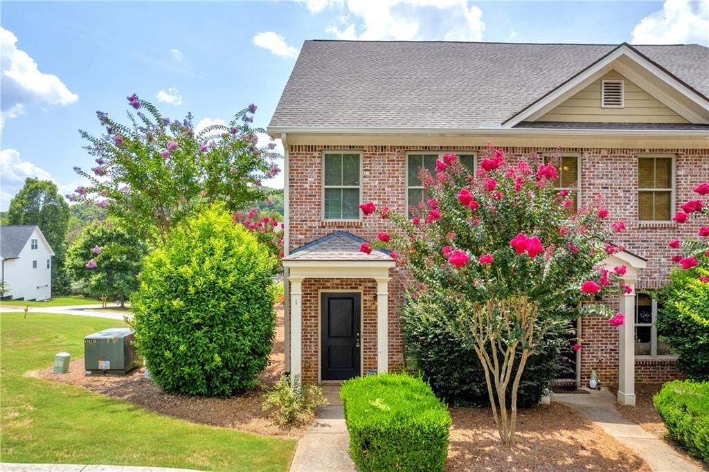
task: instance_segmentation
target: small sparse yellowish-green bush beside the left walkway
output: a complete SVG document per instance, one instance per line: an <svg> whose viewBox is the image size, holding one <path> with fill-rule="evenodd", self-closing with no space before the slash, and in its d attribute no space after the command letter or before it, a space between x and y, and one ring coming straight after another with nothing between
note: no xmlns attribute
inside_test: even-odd
<svg viewBox="0 0 709 472"><path fill-rule="evenodd" d="M293 383L286 376L281 376L272 390L264 395L263 410L275 411L279 424L289 425L310 419L316 408L327 404L322 388L303 386L298 376Z"/></svg>

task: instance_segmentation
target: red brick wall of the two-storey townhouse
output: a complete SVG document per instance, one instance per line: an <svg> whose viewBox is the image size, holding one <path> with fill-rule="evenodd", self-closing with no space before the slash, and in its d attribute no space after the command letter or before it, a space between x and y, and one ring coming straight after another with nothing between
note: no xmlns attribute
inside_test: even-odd
<svg viewBox="0 0 709 472"><path fill-rule="evenodd" d="M374 201L378 205L387 205L392 210L403 212L406 205L406 152L414 151L468 151L483 152L481 147L430 147L430 146L289 146L289 189L290 189L290 240L293 249L334 230L347 230L367 240L376 238L376 232L389 228L388 222L365 218L355 222L325 222L321 216L321 175L322 152L327 150L358 150L362 152L362 201ZM625 245L627 249L648 259L647 269L640 271L637 288L654 288L664 283L669 274L670 257L673 250L667 242L697 234L699 224L677 225L675 223L650 224L637 221L637 157L644 153L671 153L676 156L676 206L693 198L692 189L709 179L709 150L707 149L588 149L588 148L533 148L508 147L505 149L508 162L515 162L519 157L531 152L578 152L581 154L581 205L600 194L610 215L608 220L623 220L627 230L620 233L615 244ZM399 269L392 271L389 283L389 347L390 369L399 369L403 365L403 342L398 330L398 310L396 307L403 298L405 280ZM311 284L315 281L311 281ZM325 279L318 283L327 284ZM340 281L338 283L345 283ZM376 285L374 281L360 281L365 286ZM338 285L338 287L340 287ZM317 290L311 285L310 291ZM303 284L303 317L305 322L305 283ZM611 301L617 305L617 300ZM366 304L365 304L366 306ZM317 311L317 299L315 308ZM316 311L313 315L317 322ZM376 309L374 310L376 318ZM317 330L317 324L314 325ZM588 318L582 326L584 349L582 351L581 372L588 378L591 367L598 371L601 380L610 383L618 379L618 331L607 320ZM303 332L305 336L305 332ZM303 338L305 340L305 337ZM316 338L313 342L317 343ZM304 343L305 344L305 343ZM374 344L376 345L376 330ZM370 344L371 345L371 344ZM305 349L303 346L303 370L305 371ZM317 350L315 347L308 349ZM308 354L310 355L310 354ZM316 358L314 358L317 361ZM308 361L311 361L308 358ZM674 367L667 364L638 364L637 381L642 383L647 378L674 376ZM316 364L317 366L317 364ZM374 367L376 367L376 350ZM315 375L310 371L308 375ZM615 379L615 380L613 380Z"/></svg>

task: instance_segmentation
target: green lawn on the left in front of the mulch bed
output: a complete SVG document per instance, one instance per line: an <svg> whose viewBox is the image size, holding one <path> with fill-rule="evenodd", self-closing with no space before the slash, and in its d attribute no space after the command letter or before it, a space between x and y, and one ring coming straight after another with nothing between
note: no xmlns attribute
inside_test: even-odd
<svg viewBox="0 0 709 472"><path fill-rule="evenodd" d="M295 441L209 427L23 376L55 353L83 356L85 335L121 322L0 314L0 453L4 462L105 463L218 471L285 471Z"/></svg>

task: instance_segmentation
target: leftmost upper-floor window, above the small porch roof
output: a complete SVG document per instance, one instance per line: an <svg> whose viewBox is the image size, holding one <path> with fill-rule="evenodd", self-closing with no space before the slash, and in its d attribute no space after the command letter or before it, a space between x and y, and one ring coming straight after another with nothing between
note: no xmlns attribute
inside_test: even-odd
<svg viewBox="0 0 709 472"><path fill-rule="evenodd" d="M325 220L359 219L362 156L352 152L323 155L323 216Z"/></svg>

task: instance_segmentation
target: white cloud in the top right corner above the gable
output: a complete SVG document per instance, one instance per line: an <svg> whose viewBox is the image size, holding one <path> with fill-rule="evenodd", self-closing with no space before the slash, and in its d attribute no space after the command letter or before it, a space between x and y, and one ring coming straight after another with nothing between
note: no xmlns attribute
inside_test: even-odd
<svg viewBox="0 0 709 472"><path fill-rule="evenodd" d="M709 45L709 0L666 0L632 30L633 44Z"/></svg>

